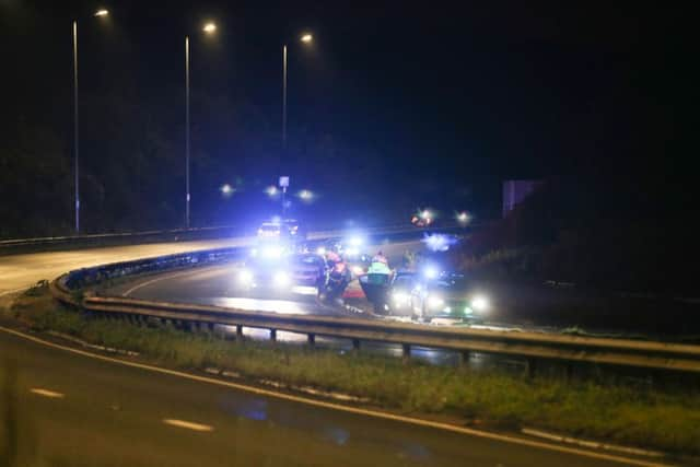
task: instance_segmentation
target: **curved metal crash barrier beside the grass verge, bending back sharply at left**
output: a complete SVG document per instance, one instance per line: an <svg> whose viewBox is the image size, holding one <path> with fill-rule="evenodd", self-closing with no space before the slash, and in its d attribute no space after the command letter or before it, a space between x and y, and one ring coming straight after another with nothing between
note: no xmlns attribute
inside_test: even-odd
<svg viewBox="0 0 700 467"><path fill-rule="evenodd" d="M313 343L316 336L350 339L359 348L362 341L397 343L404 354L412 347L427 347L462 352L483 352L525 358L528 367L537 360L570 363L594 363L700 372L700 346L628 339L591 338L545 332L486 330L460 327L428 326L354 317L283 315L237 308L195 304L150 302L114 296L95 296L81 289L103 280L135 273L231 260L240 248L220 248L119 262L72 271L51 283L54 296L72 306L101 316L116 316L138 323L148 319L173 323L187 329L213 330L214 326L261 328L276 338L277 331L305 334Z"/></svg>

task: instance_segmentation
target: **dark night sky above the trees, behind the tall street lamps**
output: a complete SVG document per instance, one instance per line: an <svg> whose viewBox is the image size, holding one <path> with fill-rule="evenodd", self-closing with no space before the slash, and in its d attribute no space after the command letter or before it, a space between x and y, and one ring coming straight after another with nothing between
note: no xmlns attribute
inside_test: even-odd
<svg viewBox="0 0 700 467"><path fill-rule="evenodd" d="M2 118L21 112L70 130L70 22L81 17L86 93L171 100L164 118L174 125L189 32L192 86L245 95L275 129L280 45L290 42L291 132L331 133L376 154L388 180L410 180L436 202L441 187L476 191L487 211L502 179L673 172L681 103L696 95L685 13L668 2L0 5L12 35L3 62L14 65L3 94L15 109ZM90 17L102 5L109 24ZM219 24L214 42L198 34L206 19ZM303 31L313 49L294 44Z"/></svg>

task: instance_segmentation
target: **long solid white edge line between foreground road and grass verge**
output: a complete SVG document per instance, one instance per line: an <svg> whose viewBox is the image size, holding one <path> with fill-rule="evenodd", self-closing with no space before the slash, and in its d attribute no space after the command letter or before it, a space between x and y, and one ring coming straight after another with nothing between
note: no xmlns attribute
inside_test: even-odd
<svg viewBox="0 0 700 467"><path fill-rule="evenodd" d="M326 402L326 401L323 401L323 400L316 400L316 399L311 399L311 398L301 397L301 396L293 396L291 394L277 393L277 392L273 392L273 390L270 390L270 389L262 389L262 388L259 388L259 387L246 386L244 384L232 383L232 382L221 381L221 380L214 380L214 378L207 377L207 376L198 376L198 375L194 375L194 374L178 372L178 371L175 371L175 370L167 370L167 369L162 369L162 367L159 367L159 366L147 365L147 364L143 364L143 363L137 363L137 362L130 362L130 361L127 361L127 360L114 359L114 358L110 358L110 357L105 357L105 355L100 355L100 354L96 354L96 353L86 352L84 350L73 349L71 347L60 346L58 343L49 342L47 340L39 339L39 338L33 337L33 336L26 335L24 332L20 332L20 331L14 330L14 329L5 328L3 326L0 326L0 331L7 332L7 334L11 334L13 336L21 337L23 339L30 340L30 341L35 342L35 343L40 343L40 345L46 346L46 347L63 350L66 352L74 353L74 354L86 357L86 358L90 358L90 359L102 360L104 362L116 363L116 364L124 365L124 366L131 366L131 367L135 367L135 369L145 370L145 371L150 371L150 372L153 372L153 373L161 373L161 374L166 374L166 375L171 375L171 376L177 376L177 377L182 377L184 380L197 381L197 382L200 382L200 383L212 384L212 385L215 385L215 386L230 387L232 389L243 390L243 392L246 392L246 393L256 394L258 396L272 397L272 398L276 398L276 399L288 400L288 401L291 401L291 402L304 404L304 405L312 406L312 407L320 407L320 408L330 409L330 410L338 410L338 411L341 411L341 412L355 413L355 415L361 415L361 416L372 417L372 418L377 418L377 419L383 419L383 420L392 420L392 421L396 421L396 422L402 422L402 423L407 423L407 424L412 424L412 425L416 425L416 427L427 427L427 428L432 428L432 429L443 430L443 431L450 431L450 432L453 432L453 433L459 433L459 434L465 434L465 435L475 436L475 437L482 437L482 439L486 439L486 440L493 440L493 441L500 441L500 442L503 442L503 443L518 444L521 446L536 447L536 448L540 448L540 450L545 450L545 451L553 451L553 452L558 452L558 453L573 454L573 455L590 457L590 458L594 458L594 459L609 460L609 462L634 465L634 466L642 466L642 467L668 467L668 464L661 464L661 463L657 463L657 462L650 462L650 460L644 460L644 459L634 459L634 458L623 457L623 456L618 456L618 455L612 455L612 454L605 454L605 453L597 453L597 452L593 452L593 451L580 450L580 448L576 448L576 447L561 446L561 445L558 445L558 444L546 443L546 442L542 442L542 441L528 440L528 439L525 439L525 437L518 437L518 436L514 436L514 435L510 435L510 434L500 434L500 433L493 433L493 432L489 432L489 431L480 431L480 430L476 430L476 429L472 429L472 428L458 427L458 425L455 425L455 424L438 422L438 421L431 421L431 420L422 420L422 419L418 419L418 418L413 418L413 417L407 417L407 416L399 416L399 415L389 413L389 412L383 412L383 411L380 411L380 410L362 409L362 408L359 408L359 407L351 407L351 406L342 406L340 404Z"/></svg>

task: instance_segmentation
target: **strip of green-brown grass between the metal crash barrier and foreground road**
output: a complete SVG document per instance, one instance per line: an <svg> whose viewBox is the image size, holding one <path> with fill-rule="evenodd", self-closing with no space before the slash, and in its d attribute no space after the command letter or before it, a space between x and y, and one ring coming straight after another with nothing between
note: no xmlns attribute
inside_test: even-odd
<svg viewBox="0 0 700 467"><path fill-rule="evenodd" d="M172 328L90 319L33 290L4 312L38 331L140 353L167 367L217 366L249 381L273 380L368 398L404 413L446 416L467 424L532 427L609 443L700 454L700 392L626 384L526 378L497 371L434 366L363 352L340 354L277 342L222 339Z"/></svg>

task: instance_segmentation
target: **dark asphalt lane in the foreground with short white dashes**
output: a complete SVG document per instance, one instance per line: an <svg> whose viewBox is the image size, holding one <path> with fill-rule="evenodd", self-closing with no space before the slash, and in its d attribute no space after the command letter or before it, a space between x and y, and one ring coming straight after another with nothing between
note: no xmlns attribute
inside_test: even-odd
<svg viewBox="0 0 700 467"><path fill-rule="evenodd" d="M16 437L15 465L620 465L264 397L48 348L2 330L0 354L0 450ZM18 377L8 385L11 367L19 369Z"/></svg>

